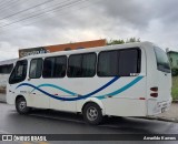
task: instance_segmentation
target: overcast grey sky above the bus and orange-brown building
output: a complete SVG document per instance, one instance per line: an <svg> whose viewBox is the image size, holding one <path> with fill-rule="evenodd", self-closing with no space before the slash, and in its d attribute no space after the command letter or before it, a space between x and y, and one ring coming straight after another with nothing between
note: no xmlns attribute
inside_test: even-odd
<svg viewBox="0 0 178 144"><path fill-rule="evenodd" d="M0 0L0 61L19 49L131 37L178 51L178 0Z"/></svg>

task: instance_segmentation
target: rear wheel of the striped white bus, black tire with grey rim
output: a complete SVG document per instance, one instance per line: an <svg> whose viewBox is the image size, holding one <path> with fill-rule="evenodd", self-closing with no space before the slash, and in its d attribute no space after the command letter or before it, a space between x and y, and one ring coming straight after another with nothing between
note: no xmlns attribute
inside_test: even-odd
<svg viewBox="0 0 178 144"><path fill-rule="evenodd" d="M98 125L102 121L101 109L96 103L88 103L83 107L82 115L85 121L89 124Z"/></svg>

